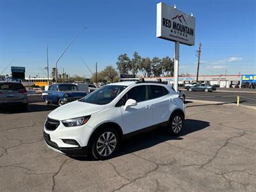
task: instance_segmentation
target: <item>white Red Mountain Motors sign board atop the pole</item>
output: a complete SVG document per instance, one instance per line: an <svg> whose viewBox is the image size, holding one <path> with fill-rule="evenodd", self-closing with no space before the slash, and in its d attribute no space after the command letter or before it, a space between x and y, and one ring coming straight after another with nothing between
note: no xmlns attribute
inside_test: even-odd
<svg viewBox="0 0 256 192"><path fill-rule="evenodd" d="M156 36L180 44L195 45L195 17L158 3Z"/></svg>

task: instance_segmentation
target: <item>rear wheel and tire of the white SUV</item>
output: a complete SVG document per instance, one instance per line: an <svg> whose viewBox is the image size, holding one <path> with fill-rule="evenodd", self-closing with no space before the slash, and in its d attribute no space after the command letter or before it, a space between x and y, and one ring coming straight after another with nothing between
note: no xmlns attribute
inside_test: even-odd
<svg viewBox="0 0 256 192"><path fill-rule="evenodd" d="M175 113L171 116L168 123L168 131L172 135L178 135L182 131L184 118L180 113Z"/></svg>

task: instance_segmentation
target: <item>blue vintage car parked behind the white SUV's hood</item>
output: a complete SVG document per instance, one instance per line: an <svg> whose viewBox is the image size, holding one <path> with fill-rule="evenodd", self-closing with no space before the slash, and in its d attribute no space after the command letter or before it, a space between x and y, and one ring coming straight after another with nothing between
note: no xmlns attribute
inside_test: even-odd
<svg viewBox="0 0 256 192"><path fill-rule="evenodd" d="M62 106L68 102L81 99L88 95L88 92L79 92L78 86L73 83L58 83L49 86L48 91L43 91L42 99L46 104L51 102Z"/></svg>

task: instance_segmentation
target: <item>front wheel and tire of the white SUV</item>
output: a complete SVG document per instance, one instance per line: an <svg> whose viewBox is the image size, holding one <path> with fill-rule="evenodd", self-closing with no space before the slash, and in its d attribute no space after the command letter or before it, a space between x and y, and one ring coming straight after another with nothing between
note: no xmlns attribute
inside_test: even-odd
<svg viewBox="0 0 256 192"><path fill-rule="evenodd" d="M109 134L109 138L107 138L108 134ZM106 140L104 140L104 136ZM104 141L104 143L100 143L102 141ZM113 147L114 145L115 147ZM95 136L93 137L93 143L92 143L92 147L90 148L90 153L95 159L99 159L99 160L109 159L115 155L119 145L120 145L120 135L118 134L116 129L111 127L106 127L106 128L100 129L100 131L97 132L97 134L95 134ZM112 152L110 152L110 150L112 150Z"/></svg>

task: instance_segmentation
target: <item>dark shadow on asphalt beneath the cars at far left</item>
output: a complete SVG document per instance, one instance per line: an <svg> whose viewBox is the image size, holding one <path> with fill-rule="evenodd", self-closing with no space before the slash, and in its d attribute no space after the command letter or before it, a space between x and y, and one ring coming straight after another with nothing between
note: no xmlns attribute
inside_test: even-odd
<svg viewBox="0 0 256 192"><path fill-rule="evenodd" d="M0 109L0 114L14 114L14 113L31 113L31 112L38 112L38 111L52 111L58 108L58 106L54 104L46 105L46 104L36 104L31 103L28 105L28 109L22 109L21 106L6 106Z"/></svg>

